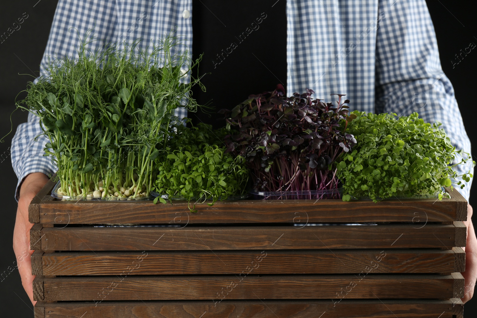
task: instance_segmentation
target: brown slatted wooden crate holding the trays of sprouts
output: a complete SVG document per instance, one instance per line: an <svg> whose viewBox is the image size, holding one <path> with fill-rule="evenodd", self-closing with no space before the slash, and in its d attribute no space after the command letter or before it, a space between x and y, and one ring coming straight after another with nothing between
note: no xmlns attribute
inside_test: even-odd
<svg viewBox="0 0 477 318"><path fill-rule="evenodd" d="M35 318L463 317L467 202L456 190L190 213L184 202L55 201L52 187L29 208Z"/></svg>

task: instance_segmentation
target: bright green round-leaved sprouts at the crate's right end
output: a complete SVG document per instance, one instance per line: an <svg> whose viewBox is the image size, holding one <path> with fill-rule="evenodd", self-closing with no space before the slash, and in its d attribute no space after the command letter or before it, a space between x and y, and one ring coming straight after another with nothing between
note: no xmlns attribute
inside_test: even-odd
<svg viewBox="0 0 477 318"><path fill-rule="evenodd" d="M456 151L440 123L425 123L417 113L395 118L396 114L354 111L357 116L347 127L357 146L338 164L343 185L343 201L369 197L374 202L394 196L449 196L442 186L463 188L462 178L470 181L470 171L458 175L454 168L471 160ZM342 123L344 124L344 123ZM464 154L460 162L453 164ZM473 162L475 165L475 162Z"/></svg>

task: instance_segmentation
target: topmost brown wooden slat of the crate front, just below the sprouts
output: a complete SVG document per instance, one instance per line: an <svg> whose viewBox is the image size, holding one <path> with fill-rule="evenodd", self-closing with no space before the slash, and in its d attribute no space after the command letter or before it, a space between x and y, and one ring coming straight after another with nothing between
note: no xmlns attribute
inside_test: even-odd
<svg viewBox="0 0 477 318"><path fill-rule="evenodd" d="M455 194L457 192L455 191ZM190 213L187 202L157 204L140 202L52 201L40 205L43 224L186 224L202 223L336 223L461 221L454 198L343 202L342 200L241 200L196 204Z"/></svg>

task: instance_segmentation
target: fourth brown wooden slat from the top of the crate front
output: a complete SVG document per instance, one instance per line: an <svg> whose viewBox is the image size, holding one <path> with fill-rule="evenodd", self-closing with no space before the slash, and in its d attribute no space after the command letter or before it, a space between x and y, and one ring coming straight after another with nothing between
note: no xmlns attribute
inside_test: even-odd
<svg viewBox="0 0 477 318"><path fill-rule="evenodd" d="M236 275L41 278L45 301L218 300L250 299L252 295L260 299L448 299L463 296L461 289L455 289L464 284L460 273L452 276L368 274L363 277L361 280L357 275L248 275L241 280Z"/></svg>

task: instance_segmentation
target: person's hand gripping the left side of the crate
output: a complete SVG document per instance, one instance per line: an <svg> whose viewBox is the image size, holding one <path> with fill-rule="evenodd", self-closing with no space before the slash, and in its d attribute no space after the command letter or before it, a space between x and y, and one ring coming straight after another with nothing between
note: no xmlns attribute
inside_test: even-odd
<svg viewBox="0 0 477 318"><path fill-rule="evenodd" d="M13 251L17 257L17 267L20 272L21 284L30 297L33 306L33 279L31 275L31 254L30 250L30 229L33 226L28 221L28 205L35 195L48 182L46 174L35 172L26 176L20 188L20 198L18 200L17 218L13 230Z"/></svg>

